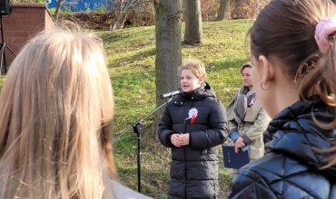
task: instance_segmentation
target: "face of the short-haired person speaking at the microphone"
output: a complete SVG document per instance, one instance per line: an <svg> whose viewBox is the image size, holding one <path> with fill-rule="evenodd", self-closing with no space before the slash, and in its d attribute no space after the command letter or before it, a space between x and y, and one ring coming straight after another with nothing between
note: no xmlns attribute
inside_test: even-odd
<svg viewBox="0 0 336 199"><path fill-rule="evenodd" d="M184 92L191 92L201 87L203 79L198 79L193 71L184 69L181 71L181 88Z"/></svg>

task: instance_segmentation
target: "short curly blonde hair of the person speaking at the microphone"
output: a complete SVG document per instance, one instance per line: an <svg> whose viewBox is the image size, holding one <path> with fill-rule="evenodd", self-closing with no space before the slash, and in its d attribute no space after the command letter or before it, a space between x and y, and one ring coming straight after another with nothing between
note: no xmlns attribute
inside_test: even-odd
<svg viewBox="0 0 336 199"><path fill-rule="evenodd" d="M203 78L203 83L206 81L206 71L204 63L195 58L187 58L181 66L178 67L178 75L181 75L181 71L190 70L196 76L196 78Z"/></svg>

